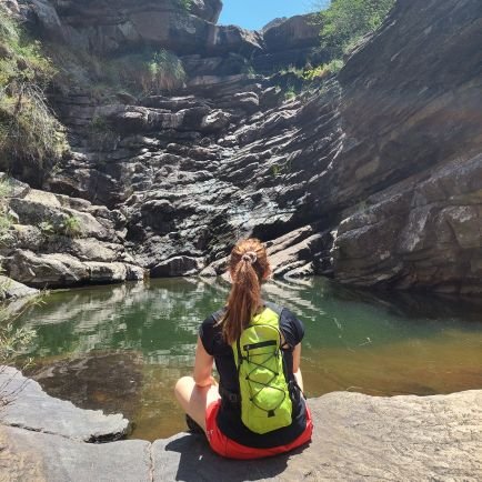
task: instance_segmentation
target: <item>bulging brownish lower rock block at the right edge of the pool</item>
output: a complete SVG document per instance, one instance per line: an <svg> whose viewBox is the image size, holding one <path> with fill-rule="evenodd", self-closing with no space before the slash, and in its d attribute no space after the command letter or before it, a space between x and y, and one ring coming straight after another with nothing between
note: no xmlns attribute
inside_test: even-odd
<svg viewBox="0 0 482 482"><path fill-rule="evenodd" d="M341 222L332 249L340 281L480 292L482 157L429 172L369 197Z"/></svg>

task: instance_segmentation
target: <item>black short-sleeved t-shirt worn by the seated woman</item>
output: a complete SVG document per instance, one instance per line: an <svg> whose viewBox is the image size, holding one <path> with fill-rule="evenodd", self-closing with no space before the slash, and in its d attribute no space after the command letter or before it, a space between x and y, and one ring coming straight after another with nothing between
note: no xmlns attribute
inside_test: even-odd
<svg viewBox="0 0 482 482"><path fill-rule="evenodd" d="M283 333L288 348L283 350L284 361L289 380L293 380L293 354L292 349L301 342L304 335L303 323L287 308L264 302L280 315L280 330ZM238 371L235 368L232 348L222 339L219 320L223 309L208 317L201 324L199 337L204 350L214 357L215 368L220 376L220 385L228 392L239 394ZM222 396L221 408L218 413L218 426L224 435L235 442L258 448L268 449L285 445L297 439L307 426L305 404L303 396L293 400L293 421L291 425L272 432L259 434L251 432L241 421L240 408Z"/></svg>

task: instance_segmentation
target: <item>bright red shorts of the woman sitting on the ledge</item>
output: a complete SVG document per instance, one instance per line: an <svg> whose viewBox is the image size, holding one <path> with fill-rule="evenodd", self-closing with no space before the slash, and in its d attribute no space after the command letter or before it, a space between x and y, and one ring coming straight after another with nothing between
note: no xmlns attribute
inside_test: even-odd
<svg viewBox="0 0 482 482"><path fill-rule="evenodd" d="M273 446L270 449L253 449L241 445L231 439L228 439L218 428L215 419L218 416L221 400L212 402L205 410L205 432L211 449L221 456L229 459L262 459L264 456L278 455L279 453L289 452L290 450L301 446L311 440L313 432L313 422L311 413L307 405L307 428L304 432L288 445Z"/></svg>

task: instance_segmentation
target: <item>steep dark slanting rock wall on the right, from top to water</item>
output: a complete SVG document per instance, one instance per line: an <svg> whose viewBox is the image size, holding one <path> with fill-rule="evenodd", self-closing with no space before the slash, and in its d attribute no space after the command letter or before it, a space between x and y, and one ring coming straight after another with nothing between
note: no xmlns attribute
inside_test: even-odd
<svg viewBox="0 0 482 482"><path fill-rule="evenodd" d="M337 189L321 181L323 194L313 198L317 207L360 202L342 213L333 244L341 281L480 293L481 52L469 47L475 23L468 20L480 21L481 10L476 1L430 6L424 17L414 3L398 3L340 72L345 140ZM446 37L455 23L460 42ZM448 68L451 60L464 68ZM390 66L383 78L382 66Z"/></svg>

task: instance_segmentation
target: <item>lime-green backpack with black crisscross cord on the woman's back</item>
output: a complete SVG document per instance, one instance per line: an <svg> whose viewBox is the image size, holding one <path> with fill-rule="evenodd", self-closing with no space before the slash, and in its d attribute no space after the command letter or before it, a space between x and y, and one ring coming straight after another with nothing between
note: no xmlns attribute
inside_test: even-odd
<svg viewBox="0 0 482 482"><path fill-rule="evenodd" d="M274 309L265 308L254 315L232 344L240 384L241 420L248 429L260 434L292 422L280 315Z"/></svg>

